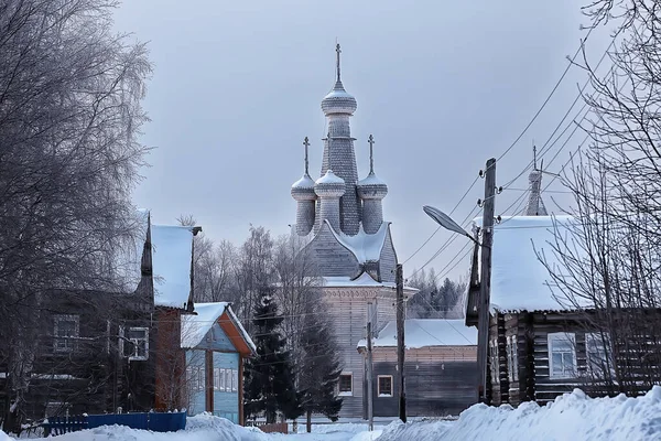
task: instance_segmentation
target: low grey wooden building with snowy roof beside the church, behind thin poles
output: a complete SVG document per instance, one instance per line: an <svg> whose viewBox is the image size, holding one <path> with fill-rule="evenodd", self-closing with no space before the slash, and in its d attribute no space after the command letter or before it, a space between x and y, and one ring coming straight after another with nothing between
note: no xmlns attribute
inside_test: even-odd
<svg viewBox="0 0 661 441"><path fill-rule="evenodd" d="M463 320L404 321L407 413L458 415L477 402L477 332ZM367 342L358 343L367 368ZM397 325L389 322L372 338L375 417L397 417ZM366 372L367 377L367 372ZM366 388L366 386L364 386ZM367 392L364 394L367 408Z"/></svg>

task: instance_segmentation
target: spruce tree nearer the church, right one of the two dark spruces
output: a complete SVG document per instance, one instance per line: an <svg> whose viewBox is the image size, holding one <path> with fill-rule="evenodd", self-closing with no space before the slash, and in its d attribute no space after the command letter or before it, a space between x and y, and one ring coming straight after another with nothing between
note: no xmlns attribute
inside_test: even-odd
<svg viewBox="0 0 661 441"><path fill-rule="evenodd" d="M307 314L302 335L304 356L299 366L299 389L302 407L311 430L312 413L321 413L337 421L342 398L337 397L337 383L342 368L338 347L330 323L325 314Z"/></svg>

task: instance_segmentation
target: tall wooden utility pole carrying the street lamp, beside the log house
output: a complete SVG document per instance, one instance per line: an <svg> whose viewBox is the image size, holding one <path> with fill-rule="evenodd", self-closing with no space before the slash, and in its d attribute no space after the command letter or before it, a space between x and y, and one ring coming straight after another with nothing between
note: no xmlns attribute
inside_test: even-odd
<svg viewBox="0 0 661 441"><path fill-rule="evenodd" d="M489 351L489 305L491 292L491 244L494 243L494 214L496 197L496 159L487 161L485 172L485 200L483 212L481 267L479 303L477 310L477 367L479 369L479 401L487 402L487 357Z"/></svg>

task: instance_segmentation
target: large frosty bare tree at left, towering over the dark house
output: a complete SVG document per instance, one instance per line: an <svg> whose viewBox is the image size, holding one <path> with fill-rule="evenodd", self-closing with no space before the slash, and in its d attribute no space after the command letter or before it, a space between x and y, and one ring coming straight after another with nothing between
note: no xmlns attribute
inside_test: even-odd
<svg viewBox="0 0 661 441"><path fill-rule="evenodd" d="M145 149L141 44L111 32L113 2L0 4L0 365L15 426L52 289L124 289L115 256L134 230ZM120 281L121 282L121 281ZM7 336L7 337L4 337Z"/></svg>

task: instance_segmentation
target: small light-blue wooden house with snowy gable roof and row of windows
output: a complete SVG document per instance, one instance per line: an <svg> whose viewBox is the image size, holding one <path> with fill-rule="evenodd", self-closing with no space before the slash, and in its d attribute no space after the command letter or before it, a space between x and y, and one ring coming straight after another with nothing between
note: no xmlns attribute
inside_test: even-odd
<svg viewBox="0 0 661 441"><path fill-rule="evenodd" d="M182 316L188 415L210 412L243 423L243 359L256 346L229 303L196 303Z"/></svg>

